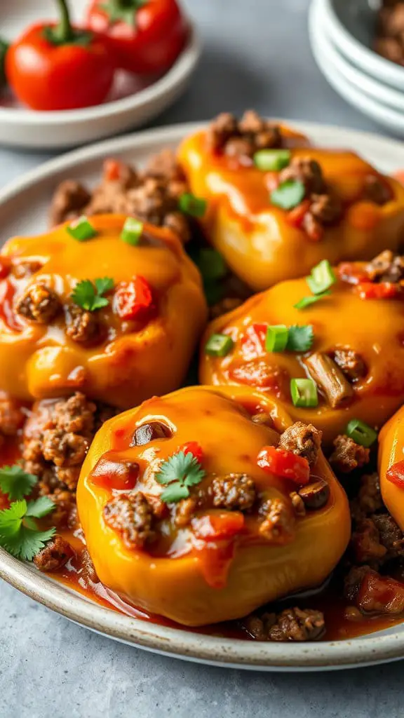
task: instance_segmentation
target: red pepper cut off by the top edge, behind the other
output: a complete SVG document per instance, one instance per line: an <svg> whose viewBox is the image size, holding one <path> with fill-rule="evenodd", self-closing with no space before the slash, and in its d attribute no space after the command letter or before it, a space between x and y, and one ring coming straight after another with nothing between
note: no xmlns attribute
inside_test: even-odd
<svg viewBox="0 0 404 718"><path fill-rule="evenodd" d="M93 0L87 23L109 39L122 70L141 75L164 73L188 36L176 0Z"/></svg>

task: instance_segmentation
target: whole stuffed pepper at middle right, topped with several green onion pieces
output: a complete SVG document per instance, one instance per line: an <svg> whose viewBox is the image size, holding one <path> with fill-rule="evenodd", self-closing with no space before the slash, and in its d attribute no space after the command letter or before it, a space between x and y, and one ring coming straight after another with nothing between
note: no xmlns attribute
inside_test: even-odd
<svg viewBox="0 0 404 718"><path fill-rule="evenodd" d="M404 258L385 251L280 282L211 322L201 382L253 386L326 444L369 447L404 401L403 279Z"/></svg>

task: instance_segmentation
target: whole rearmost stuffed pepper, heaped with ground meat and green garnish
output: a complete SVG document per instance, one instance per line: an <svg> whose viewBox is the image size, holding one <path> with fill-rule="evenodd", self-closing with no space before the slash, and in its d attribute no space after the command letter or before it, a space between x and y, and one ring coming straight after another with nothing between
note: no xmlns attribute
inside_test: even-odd
<svg viewBox="0 0 404 718"><path fill-rule="evenodd" d="M404 188L352 151L308 146L247 112L224 113L179 151L191 192L208 203L211 243L252 289L301 276L326 258L397 250Z"/></svg>

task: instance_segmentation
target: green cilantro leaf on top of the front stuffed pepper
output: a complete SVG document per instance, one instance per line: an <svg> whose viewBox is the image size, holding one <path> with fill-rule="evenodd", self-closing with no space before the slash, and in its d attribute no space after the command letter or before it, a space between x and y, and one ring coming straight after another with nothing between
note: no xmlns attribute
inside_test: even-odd
<svg viewBox="0 0 404 718"><path fill-rule="evenodd" d="M206 472L196 457L190 452L183 451L173 454L167 461L162 462L160 471L155 479L159 484L167 485L160 496L165 503L177 503L190 495L189 487L199 484Z"/></svg>

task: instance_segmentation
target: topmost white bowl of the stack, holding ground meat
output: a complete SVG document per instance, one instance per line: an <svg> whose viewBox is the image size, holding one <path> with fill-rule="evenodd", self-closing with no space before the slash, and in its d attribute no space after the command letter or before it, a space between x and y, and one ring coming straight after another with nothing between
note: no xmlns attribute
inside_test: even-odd
<svg viewBox="0 0 404 718"><path fill-rule="evenodd" d="M366 0L367 2L367 0ZM341 22L337 9L344 11L344 19L349 22L357 22L354 14L357 0L321 0L319 5L324 19L324 27L332 41L345 57L354 62L368 75L381 80L382 83L391 87L404 90L404 68L395 65L395 62L385 60L385 57L377 55L370 47L354 37L350 28ZM345 4L345 5L343 5ZM352 30L352 28L351 28Z"/></svg>

